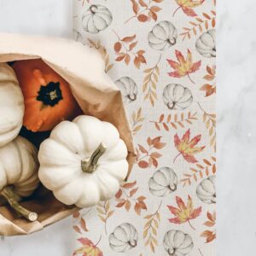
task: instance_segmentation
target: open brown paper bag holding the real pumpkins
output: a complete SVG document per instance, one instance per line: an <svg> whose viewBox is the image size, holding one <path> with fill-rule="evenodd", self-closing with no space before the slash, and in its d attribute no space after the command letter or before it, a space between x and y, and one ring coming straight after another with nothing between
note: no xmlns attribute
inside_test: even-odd
<svg viewBox="0 0 256 256"><path fill-rule="evenodd" d="M129 173L135 161L132 133L119 89L104 72L104 61L95 49L63 38L0 34L0 62L41 58L70 84L85 114L111 122L125 141L129 154ZM129 174L128 174L129 175ZM42 193L41 193L42 194ZM0 235L15 236L42 230L78 210L57 201L53 195L36 193L21 205L38 212L29 222L16 216L8 206L0 207Z"/></svg>

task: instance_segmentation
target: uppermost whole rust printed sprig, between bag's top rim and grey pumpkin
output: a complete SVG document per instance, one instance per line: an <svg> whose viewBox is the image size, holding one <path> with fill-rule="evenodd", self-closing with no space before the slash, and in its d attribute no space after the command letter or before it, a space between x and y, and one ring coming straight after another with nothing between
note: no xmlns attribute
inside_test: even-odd
<svg viewBox="0 0 256 256"><path fill-rule="evenodd" d="M137 46L137 41L135 41L136 35L120 38L117 32L113 32L119 39L118 42L113 44L113 49L116 55L118 55L115 61L125 61L125 64L128 66L131 61L131 56L133 56L133 63L138 69L141 67L141 64L147 63L144 57L145 51L143 49L139 49L136 52L133 51Z"/></svg>

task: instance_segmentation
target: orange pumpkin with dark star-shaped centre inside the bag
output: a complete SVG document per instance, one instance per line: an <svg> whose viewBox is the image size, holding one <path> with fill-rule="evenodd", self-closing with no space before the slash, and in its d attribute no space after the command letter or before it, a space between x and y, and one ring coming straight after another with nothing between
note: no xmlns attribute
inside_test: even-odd
<svg viewBox="0 0 256 256"><path fill-rule="evenodd" d="M30 131L49 131L81 110L67 81L44 61L16 61L13 65L25 102L23 125Z"/></svg>

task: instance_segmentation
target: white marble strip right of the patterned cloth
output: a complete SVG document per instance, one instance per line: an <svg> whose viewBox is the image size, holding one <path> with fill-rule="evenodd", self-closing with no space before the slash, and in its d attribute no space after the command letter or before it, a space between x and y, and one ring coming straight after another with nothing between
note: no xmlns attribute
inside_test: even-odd
<svg viewBox="0 0 256 256"><path fill-rule="evenodd" d="M218 1L218 255L256 255L256 6Z"/></svg>

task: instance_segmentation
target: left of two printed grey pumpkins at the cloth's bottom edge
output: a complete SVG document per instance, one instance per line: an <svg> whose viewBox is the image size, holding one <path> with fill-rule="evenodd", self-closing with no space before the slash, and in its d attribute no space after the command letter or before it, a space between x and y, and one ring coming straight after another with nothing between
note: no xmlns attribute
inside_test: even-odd
<svg viewBox="0 0 256 256"><path fill-rule="evenodd" d="M120 224L109 236L109 246L115 252L125 253L137 247L137 230L132 224Z"/></svg>

